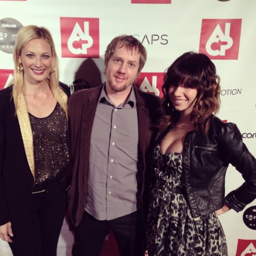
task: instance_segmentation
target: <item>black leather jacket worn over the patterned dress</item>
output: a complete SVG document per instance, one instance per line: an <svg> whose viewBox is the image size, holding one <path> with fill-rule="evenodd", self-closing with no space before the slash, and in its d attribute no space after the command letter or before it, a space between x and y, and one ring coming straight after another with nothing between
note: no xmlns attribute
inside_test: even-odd
<svg viewBox="0 0 256 256"><path fill-rule="evenodd" d="M225 197L225 175L229 163L242 174L245 183ZM196 131L187 133L183 174L185 194L193 217L222 208L225 200L239 212L256 198L256 160L243 144L237 126L223 123L215 116L206 135Z"/></svg>

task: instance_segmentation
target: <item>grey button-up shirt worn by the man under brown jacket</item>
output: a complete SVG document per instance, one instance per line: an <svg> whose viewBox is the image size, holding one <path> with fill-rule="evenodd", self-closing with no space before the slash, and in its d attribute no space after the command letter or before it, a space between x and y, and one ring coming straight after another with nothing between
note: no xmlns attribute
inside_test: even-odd
<svg viewBox="0 0 256 256"><path fill-rule="evenodd" d="M103 87L90 138L86 212L113 220L135 212L137 202L138 117L133 88L117 107Z"/></svg>

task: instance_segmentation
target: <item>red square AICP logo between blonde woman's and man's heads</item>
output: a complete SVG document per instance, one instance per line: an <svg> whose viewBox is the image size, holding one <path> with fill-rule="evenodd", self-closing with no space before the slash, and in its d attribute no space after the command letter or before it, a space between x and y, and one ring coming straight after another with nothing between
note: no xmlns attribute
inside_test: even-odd
<svg viewBox="0 0 256 256"><path fill-rule="evenodd" d="M99 19L60 17L61 56L99 58Z"/></svg>

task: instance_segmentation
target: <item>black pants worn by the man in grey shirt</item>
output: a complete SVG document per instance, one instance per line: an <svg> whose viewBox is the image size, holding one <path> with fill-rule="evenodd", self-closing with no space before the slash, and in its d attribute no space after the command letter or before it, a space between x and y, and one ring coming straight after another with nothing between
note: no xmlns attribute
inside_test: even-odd
<svg viewBox="0 0 256 256"><path fill-rule="evenodd" d="M109 228L117 240L121 256L144 256L145 236L140 211L109 221L97 220L84 211L82 221L75 230L74 255L99 256Z"/></svg>

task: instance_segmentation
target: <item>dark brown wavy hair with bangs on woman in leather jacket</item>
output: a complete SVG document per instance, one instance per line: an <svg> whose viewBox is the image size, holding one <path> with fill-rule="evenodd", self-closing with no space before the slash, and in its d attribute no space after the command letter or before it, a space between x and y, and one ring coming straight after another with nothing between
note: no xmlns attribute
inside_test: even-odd
<svg viewBox="0 0 256 256"><path fill-rule="evenodd" d="M185 85L197 90L191 122L197 131L207 133L210 118L220 109L220 77L216 74L213 62L203 53L185 52L167 69L162 86L164 96L160 103L160 132L174 125L180 115L179 111L174 109L168 94L171 85Z"/></svg>

